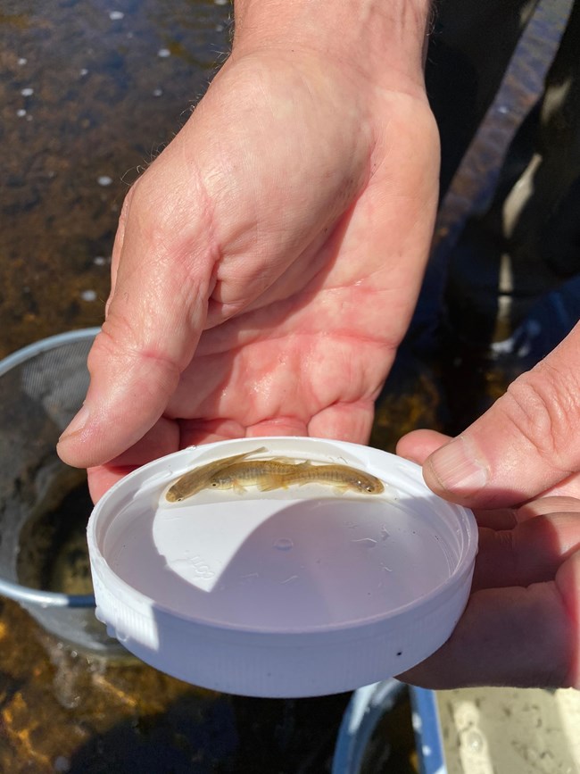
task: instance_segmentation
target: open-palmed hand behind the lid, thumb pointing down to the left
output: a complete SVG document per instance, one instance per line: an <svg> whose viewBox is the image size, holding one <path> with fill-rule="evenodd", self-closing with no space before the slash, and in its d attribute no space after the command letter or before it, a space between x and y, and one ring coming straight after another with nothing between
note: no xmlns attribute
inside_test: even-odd
<svg viewBox="0 0 580 774"><path fill-rule="evenodd" d="M95 499L187 445L365 441L416 302L438 172L418 51L395 77L392 53L370 66L377 25L357 60L303 19L282 42L242 21L121 214L85 407L59 445L92 468ZM341 33L351 48L354 26Z"/></svg>

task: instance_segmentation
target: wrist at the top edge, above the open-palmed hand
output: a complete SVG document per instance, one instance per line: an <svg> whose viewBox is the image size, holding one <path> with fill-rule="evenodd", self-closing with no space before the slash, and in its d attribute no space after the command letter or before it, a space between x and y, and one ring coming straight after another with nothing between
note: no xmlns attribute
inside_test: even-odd
<svg viewBox="0 0 580 774"><path fill-rule="evenodd" d="M423 89L431 0L235 0L233 55L316 52L375 83Z"/></svg>

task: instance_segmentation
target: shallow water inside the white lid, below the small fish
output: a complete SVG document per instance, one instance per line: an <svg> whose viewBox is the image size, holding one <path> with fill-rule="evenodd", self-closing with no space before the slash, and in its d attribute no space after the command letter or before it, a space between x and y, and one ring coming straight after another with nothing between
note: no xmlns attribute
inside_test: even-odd
<svg viewBox="0 0 580 774"><path fill-rule="evenodd" d="M427 515L364 497L138 514L129 506L104 555L131 587L195 620L280 631L340 626L415 602L449 578L439 519Z"/></svg>

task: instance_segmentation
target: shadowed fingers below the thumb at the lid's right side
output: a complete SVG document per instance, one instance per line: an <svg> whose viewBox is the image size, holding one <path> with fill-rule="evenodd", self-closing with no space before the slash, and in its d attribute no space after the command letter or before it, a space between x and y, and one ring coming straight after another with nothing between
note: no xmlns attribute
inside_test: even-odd
<svg viewBox="0 0 580 774"><path fill-rule="evenodd" d="M483 529L472 595L449 640L401 676L424 687L580 686L580 503L546 497Z"/></svg>

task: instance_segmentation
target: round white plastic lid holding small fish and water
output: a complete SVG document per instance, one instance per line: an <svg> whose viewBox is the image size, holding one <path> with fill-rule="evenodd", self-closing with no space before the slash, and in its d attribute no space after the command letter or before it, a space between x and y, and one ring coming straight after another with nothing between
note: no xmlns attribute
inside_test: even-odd
<svg viewBox="0 0 580 774"><path fill-rule="evenodd" d="M196 465L262 446L255 456L366 470L385 491L248 487L167 502L168 485ZM392 677L443 645L468 600L477 529L412 462L266 437L139 468L96 505L87 538L97 616L131 653L197 686L291 697Z"/></svg>

